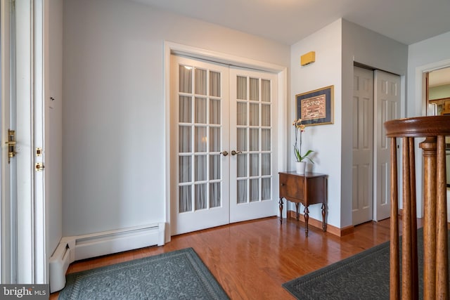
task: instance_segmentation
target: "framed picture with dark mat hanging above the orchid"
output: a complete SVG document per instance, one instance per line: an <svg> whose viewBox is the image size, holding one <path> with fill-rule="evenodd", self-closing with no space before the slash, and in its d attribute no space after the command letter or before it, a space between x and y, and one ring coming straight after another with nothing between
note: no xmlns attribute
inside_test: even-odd
<svg viewBox="0 0 450 300"><path fill-rule="evenodd" d="M334 86L326 86L295 95L297 119L306 126L333 124L333 89Z"/></svg>

